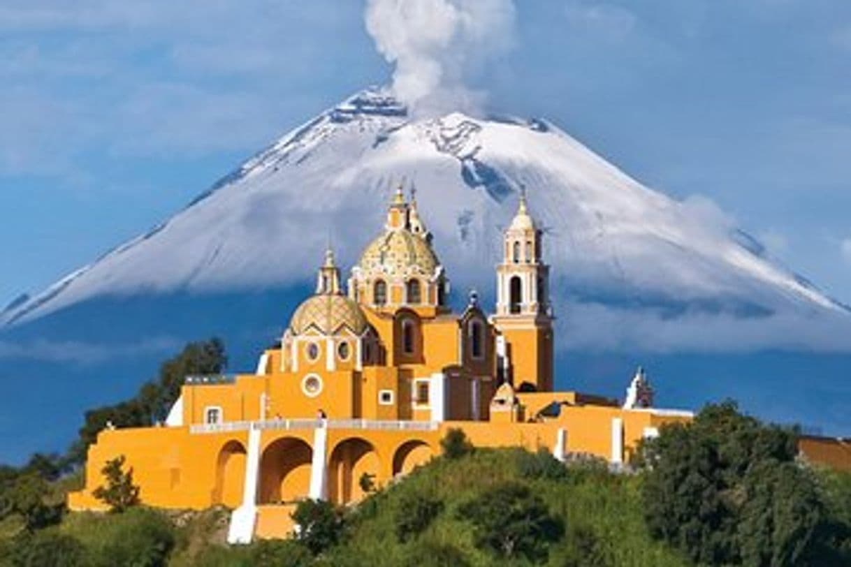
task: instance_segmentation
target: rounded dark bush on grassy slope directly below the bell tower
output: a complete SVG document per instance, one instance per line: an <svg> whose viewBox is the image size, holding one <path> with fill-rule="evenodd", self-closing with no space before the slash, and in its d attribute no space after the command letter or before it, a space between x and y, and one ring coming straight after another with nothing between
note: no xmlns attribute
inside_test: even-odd
<svg viewBox="0 0 851 567"><path fill-rule="evenodd" d="M563 536L562 522L528 486L506 482L484 491L459 509L473 525L477 547L504 558L541 560L552 542Z"/></svg>

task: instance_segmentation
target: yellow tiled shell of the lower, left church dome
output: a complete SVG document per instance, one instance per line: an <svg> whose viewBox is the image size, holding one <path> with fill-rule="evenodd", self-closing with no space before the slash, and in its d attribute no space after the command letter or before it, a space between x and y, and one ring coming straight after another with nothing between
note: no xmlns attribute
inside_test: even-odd
<svg viewBox="0 0 851 567"><path fill-rule="evenodd" d="M289 328L300 335L313 328L323 335L335 335L346 327L356 335L367 329L367 319L357 303L339 294L317 294L295 309Z"/></svg>

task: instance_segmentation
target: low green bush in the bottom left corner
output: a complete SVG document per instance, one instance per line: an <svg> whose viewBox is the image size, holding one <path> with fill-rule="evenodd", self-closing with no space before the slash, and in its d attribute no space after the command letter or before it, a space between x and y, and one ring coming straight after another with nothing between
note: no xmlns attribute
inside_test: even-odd
<svg viewBox="0 0 851 567"><path fill-rule="evenodd" d="M56 530L42 530L10 541L0 550L0 564L14 567L83 567L88 565L83 545Z"/></svg>

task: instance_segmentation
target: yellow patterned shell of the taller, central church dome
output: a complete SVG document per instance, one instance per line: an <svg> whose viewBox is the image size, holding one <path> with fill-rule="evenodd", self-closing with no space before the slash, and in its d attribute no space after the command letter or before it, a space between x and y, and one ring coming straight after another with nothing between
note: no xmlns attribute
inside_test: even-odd
<svg viewBox="0 0 851 567"><path fill-rule="evenodd" d="M440 262L431 244L410 230L387 230L372 241L357 263L365 275L434 275Z"/></svg>

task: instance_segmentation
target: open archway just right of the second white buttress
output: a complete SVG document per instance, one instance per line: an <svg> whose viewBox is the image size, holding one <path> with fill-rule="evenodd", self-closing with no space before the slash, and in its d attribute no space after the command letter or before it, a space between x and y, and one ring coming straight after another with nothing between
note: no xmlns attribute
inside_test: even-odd
<svg viewBox="0 0 851 567"><path fill-rule="evenodd" d="M328 463L328 498L336 504L357 502L366 496L361 486L363 475L371 475L375 482L379 471L378 453L371 443L360 438L341 441Z"/></svg>

